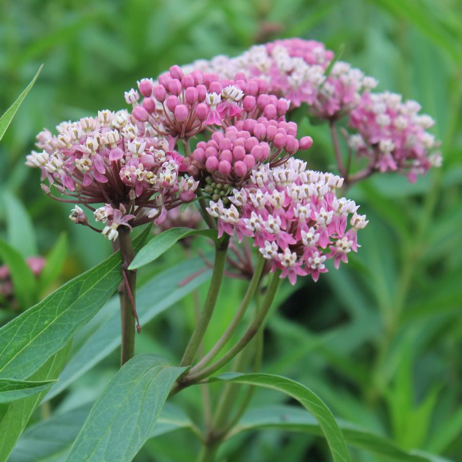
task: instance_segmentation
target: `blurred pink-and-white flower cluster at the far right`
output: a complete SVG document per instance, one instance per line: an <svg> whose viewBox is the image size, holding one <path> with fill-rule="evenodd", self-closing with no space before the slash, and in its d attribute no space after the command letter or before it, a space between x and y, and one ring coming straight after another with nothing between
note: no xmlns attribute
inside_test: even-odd
<svg viewBox="0 0 462 462"><path fill-rule="evenodd" d="M405 172L414 182L418 174L441 165L439 143L427 129L433 119L419 114L415 101L401 101L396 93L364 93L352 111L349 124L357 134L349 137L351 149L370 158L380 172Z"/></svg>

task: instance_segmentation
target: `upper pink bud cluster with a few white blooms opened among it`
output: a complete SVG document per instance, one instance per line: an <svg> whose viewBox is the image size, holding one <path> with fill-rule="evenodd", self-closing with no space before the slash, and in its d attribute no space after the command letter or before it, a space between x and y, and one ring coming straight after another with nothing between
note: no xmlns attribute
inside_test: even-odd
<svg viewBox="0 0 462 462"><path fill-rule="evenodd" d="M134 89L125 93L127 103L133 104L133 117L147 122L157 134L173 138L190 138L208 125L229 126L238 119L283 116L289 109L286 99L267 95L264 79L240 73L233 79L219 78L215 73L193 70L184 73L172 66L155 85L151 79L138 83L144 98Z"/></svg>

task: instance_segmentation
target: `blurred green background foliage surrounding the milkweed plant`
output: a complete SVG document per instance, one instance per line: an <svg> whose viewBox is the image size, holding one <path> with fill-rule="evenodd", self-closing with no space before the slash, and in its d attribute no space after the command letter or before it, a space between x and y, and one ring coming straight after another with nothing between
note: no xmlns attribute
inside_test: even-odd
<svg viewBox="0 0 462 462"><path fill-rule="evenodd" d="M68 250L54 287L111 249L100 236L74 226L69 207L42 194L38 172L24 166L43 127L123 108L124 91L137 79L173 64L235 55L255 43L293 36L325 42L334 51L345 44L342 59L376 77L379 91L416 99L436 119L443 168L415 185L376 175L349 191L370 219L360 235L363 247L349 265L322 275L317 284L304 278L294 289L283 286L280 308L265 332L263 370L302 382L337 417L404 448L462 460L460 0L3 0L0 17L0 112L45 63L0 145L1 234L26 256L47 256L58 239L66 252L60 237L65 231ZM309 166L335 170L327 127L311 126L303 111L292 117L300 136L314 138ZM26 232L18 242L17 223L34 234ZM197 246L208 249L199 239L187 252L195 254ZM184 256L177 246L147 271L160 271ZM238 280L226 280L208 343L223 331L244 288ZM198 296L203 292L201 287ZM137 351L178 360L193 305L188 296L144 326ZM68 409L95 399L116 367L114 353L52 405ZM197 390L177 399L200 422ZM284 399L258 391L252 405ZM150 440L136 460L189 461L191 448L197 441L180 430ZM235 437L225 454L229 461L329 460L322 440L279 430ZM358 450L352 457L382 460Z"/></svg>

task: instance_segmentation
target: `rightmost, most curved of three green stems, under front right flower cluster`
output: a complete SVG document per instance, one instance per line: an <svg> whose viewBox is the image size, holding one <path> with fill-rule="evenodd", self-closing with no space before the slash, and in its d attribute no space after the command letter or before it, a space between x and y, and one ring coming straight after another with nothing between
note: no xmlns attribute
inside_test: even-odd
<svg viewBox="0 0 462 462"><path fill-rule="evenodd" d="M277 288L279 286L279 276L281 270L277 269L274 274L273 278L271 279L270 286L268 291L265 295L265 299L263 300L262 307L258 311L253 323L247 329L245 334L240 338L239 342L236 343L226 354L224 354L220 359L215 361L215 363L211 364L209 367L199 370L196 367L193 367L190 372L184 376L182 382L184 385L196 383L199 380L202 380L205 377L216 372L218 369L221 369L225 364L229 363L229 361L234 358L238 353L240 353L245 346L252 340L252 338L256 335L260 327L262 327L265 317L268 314L268 311L271 307L273 302L274 296L276 295Z"/></svg>

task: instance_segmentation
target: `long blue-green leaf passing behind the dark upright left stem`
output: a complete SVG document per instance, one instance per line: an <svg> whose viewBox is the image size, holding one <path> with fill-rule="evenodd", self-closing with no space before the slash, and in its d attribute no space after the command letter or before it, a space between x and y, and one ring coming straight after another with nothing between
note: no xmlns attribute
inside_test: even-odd
<svg viewBox="0 0 462 462"><path fill-rule="evenodd" d="M210 278L211 270L194 277L184 286L179 283L204 268L202 258L186 260L152 278L136 292L136 310L142 326L182 299ZM155 293L155 297L153 294ZM110 316L86 339L85 343L68 360L59 381L46 399L61 393L75 379L107 357L120 346L120 311L118 298L109 304Z"/></svg>

